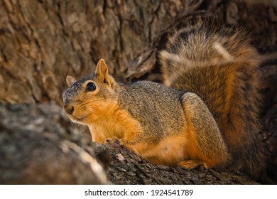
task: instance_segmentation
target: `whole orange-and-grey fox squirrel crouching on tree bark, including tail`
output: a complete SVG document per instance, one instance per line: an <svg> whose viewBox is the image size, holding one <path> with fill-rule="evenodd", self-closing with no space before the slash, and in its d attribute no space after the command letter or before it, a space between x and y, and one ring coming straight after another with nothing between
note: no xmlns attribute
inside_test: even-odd
<svg viewBox="0 0 277 199"><path fill-rule="evenodd" d="M188 18L159 57L165 85L116 82L104 60L80 80L67 76L64 109L92 141L119 144L156 164L235 168L258 179L259 61L241 29ZM172 88L173 87L173 88Z"/></svg>

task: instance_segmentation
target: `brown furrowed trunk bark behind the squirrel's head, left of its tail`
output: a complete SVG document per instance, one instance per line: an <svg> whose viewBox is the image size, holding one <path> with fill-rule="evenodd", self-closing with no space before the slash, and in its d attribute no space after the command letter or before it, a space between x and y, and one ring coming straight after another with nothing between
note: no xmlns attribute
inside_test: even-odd
<svg viewBox="0 0 277 199"><path fill-rule="evenodd" d="M195 1L195 4L197 1ZM153 69L136 59L186 10L186 1L1 1L0 100L61 103L68 74L81 77L100 58L126 80ZM23 83L23 84L22 84ZM17 87L20 84L21 87Z"/></svg>

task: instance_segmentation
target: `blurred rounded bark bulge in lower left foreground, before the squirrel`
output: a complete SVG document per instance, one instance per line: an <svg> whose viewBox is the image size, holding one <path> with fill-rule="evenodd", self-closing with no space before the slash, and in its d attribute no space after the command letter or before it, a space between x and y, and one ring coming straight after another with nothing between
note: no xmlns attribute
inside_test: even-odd
<svg viewBox="0 0 277 199"><path fill-rule="evenodd" d="M108 183L90 137L61 113L55 104L0 105L1 184Z"/></svg>

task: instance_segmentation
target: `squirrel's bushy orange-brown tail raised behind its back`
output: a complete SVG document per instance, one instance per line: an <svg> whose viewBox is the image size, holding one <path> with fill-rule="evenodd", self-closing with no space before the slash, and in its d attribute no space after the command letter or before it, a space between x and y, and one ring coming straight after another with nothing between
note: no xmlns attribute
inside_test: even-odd
<svg viewBox="0 0 277 199"><path fill-rule="evenodd" d="M255 179L266 171L259 138L258 57L242 28L205 15L179 23L160 53L165 84L203 99L232 154L232 165Z"/></svg>

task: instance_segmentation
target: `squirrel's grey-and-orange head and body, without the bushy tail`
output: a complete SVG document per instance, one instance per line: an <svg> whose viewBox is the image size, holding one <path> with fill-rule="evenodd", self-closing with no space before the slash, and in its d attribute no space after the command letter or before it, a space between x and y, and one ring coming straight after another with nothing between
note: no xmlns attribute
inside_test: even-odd
<svg viewBox="0 0 277 199"><path fill-rule="evenodd" d="M212 168L229 160L212 114L195 94L155 82L115 82L104 60L94 74L67 80L65 112L89 127L92 141L119 140L142 158L168 166ZM86 90L89 83L94 90Z"/></svg>

